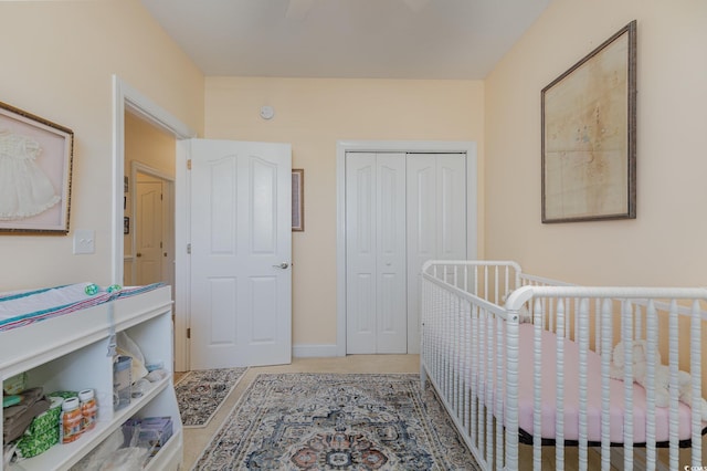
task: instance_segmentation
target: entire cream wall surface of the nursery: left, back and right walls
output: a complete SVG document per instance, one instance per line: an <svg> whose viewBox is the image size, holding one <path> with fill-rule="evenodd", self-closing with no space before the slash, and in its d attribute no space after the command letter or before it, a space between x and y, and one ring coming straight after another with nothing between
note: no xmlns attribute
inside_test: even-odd
<svg viewBox="0 0 707 471"><path fill-rule="evenodd" d="M113 74L207 137L292 143L307 205L293 234L295 345L336 341L338 139L477 142L487 259L580 283L705 284L704 0L555 0L485 82L204 81L139 0L0 2L0 101L75 133L72 232L0 236L0 290L110 281ZM637 219L541 224L540 90L633 19ZM72 254L77 228L96 231L95 254Z"/></svg>

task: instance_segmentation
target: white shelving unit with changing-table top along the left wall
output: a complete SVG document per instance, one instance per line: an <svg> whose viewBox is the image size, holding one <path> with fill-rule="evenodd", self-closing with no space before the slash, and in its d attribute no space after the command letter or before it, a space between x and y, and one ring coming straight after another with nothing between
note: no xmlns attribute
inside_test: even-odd
<svg viewBox="0 0 707 471"><path fill-rule="evenodd" d="M182 462L182 426L170 374L152 383L129 406L113 410L113 358L108 344L125 331L146 360L170 368L173 357L172 303L169 286L119 299L113 303L0 333L0 379L28 373L28 386L45 393L93 388L98 401L95 429L78 440L56 444L44 453L0 471L68 470L130 417L171 417L172 437L148 462L148 470L177 470ZM2 423L0 422L0 431Z"/></svg>

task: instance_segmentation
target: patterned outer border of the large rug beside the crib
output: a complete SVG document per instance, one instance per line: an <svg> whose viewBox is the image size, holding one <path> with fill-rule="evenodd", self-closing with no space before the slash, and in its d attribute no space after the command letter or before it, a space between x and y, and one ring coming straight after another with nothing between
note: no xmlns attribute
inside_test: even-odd
<svg viewBox="0 0 707 471"><path fill-rule="evenodd" d="M240 397L238 398L235 404L231 407L231 410L229 410L229 412L226 414L223 422L213 432L213 435L211 436L211 438L209 439L207 444L203 447L201 452L198 454L197 459L194 460L193 464L191 465L191 471L199 470L199 468L197 468L198 464L201 462L201 460L204 458L204 456L207 456L209 450L212 447L218 444L217 441L220 440L221 435L224 432L224 429L228 427L229 422L233 419L234 414L238 414L239 408L243 407L243 402L245 402L245 401L247 401L250 399L252 390L256 389L256 385L257 385L257 383L258 383L258 380L261 378L295 377L295 376L302 376L302 375L307 375L307 376L327 376L327 377L329 377L329 376L341 376L341 377L346 377L346 376L368 376L368 377L392 376L392 377L401 377L402 379L414 379L416 381L420 381L420 374L419 373L313 373L313 371L256 373L255 375L253 375L250 385L247 385L247 387L242 391L242 394L240 395ZM426 389L430 390L430 393L434 396L435 400L439 402L439 407L442 409L442 412L446 417L447 425L451 427L451 430L454 433L454 436L456 437L456 439L458 440L460 444L462 444L464 447L466 452L474 460L473 454L471 453L471 451L468 451L468 449L466 448L466 444L464 443L464 439L461 437L458 430L456 430L456 427L454 426L451 416L449 415L449 412L446 410L444 410L444 407L442 405L442 399L440 398L439 393L436 391L434 386L430 383L430 380L426 381ZM421 394L424 395L424 393L421 393ZM481 470L481 467L476 462L468 463L468 464L469 464L469 468L468 469L465 468L466 471ZM234 468L229 468L229 469L233 470ZM344 469L344 468L341 468L341 469Z"/></svg>

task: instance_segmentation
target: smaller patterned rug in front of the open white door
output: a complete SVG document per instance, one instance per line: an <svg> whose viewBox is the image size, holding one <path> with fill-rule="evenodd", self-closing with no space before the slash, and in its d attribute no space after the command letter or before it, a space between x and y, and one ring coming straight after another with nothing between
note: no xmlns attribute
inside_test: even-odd
<svg viewBox="0 0 707 471"><path fill-rule="evenodd" d="M247 368L189 371L175 384L183 427L205 427Z"/></svg>

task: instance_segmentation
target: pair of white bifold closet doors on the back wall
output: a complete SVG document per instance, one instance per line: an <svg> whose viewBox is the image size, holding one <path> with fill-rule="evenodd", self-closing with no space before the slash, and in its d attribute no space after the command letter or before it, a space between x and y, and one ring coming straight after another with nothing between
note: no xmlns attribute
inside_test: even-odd
<svg viewBox="0 0 707 471"><path fill-rule="evenodd" d="M466 258L464 154L347 153L347 353L418 353L418 274Z"/></svg>

